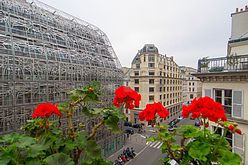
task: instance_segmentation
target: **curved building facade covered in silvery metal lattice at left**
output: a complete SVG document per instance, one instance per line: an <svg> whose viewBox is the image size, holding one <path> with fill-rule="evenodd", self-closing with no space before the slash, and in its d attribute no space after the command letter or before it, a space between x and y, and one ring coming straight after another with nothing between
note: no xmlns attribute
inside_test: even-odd
<svg viewBox="0 0 248 165"><path fill-rule="evenodd" d="M93 80L110 106L120 69L99 28L37 0L0 0L0 134L17 131L38 104L64 102L66 91ZM75 125L87 120L75 113Z"/></svg>

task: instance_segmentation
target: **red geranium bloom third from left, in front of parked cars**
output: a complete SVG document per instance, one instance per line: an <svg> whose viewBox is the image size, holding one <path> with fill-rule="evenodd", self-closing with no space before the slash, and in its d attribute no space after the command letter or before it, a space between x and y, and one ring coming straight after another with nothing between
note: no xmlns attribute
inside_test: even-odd
<svg viewBox="0 0 248 165"><path fill-rule="evenodd" d="M160 116L160 118L166 118L169 116L169 112L160 102L154 102L153 104L146 105L146 108L139 113L139 119L140 121L144 121L145 119L146 121L152 120L155 118L156 113Z"/></svg>

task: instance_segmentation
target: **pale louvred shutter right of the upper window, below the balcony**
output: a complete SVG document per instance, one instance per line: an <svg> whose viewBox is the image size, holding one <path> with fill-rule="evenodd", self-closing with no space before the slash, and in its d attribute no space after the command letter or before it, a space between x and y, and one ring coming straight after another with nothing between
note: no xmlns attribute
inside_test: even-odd
<svg viewBox="0 0 248 165"><path fill-rule="evenodd" d="M232 117L243 117L243 91L232 92Z"/></svg>

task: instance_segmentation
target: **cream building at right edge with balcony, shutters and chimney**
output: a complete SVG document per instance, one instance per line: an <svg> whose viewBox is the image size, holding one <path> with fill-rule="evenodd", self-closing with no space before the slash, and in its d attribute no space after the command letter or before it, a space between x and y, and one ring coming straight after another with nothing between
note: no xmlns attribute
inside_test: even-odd
<svg viewBox="0 0 248 165"><path fill-rule="evenodd" d="M248 164L248 8L236 9L231 14L231 36L227 55L201 59L195 74L202 81L202 93L222 104L229 121L238 123L242 135L227 133L232 151ZM214 131L217 125L210 123ZM223 128L217 128L223 134Z"/></svg>

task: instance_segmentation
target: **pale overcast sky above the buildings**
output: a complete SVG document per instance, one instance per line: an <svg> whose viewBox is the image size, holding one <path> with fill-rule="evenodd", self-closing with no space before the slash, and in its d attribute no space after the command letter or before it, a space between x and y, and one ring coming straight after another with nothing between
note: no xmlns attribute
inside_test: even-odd
<svg viewBox="0 0 248 165"><path fill-rule="evenodd" d="M202 57L226 56L231 13L248 0L40 0L105 32L122 66L144 44L197 67Z"/></svg>

